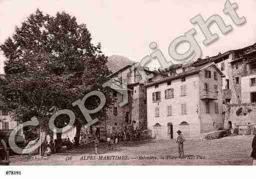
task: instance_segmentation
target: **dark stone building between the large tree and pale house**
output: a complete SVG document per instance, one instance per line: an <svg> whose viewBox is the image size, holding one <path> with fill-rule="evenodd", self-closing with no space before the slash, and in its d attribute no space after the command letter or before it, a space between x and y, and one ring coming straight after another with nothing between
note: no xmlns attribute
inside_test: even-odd
<svg viewBox="0 0 256 179"><path fill-rule="evenodd" d="M127 129L147 129L147 96L145 84L149 81L161 79L164 75L159 72L150 71L144 68L147 75L152 75L150 79L143 80L138 69L133 65L127 65L111 75L116 88L126 88L128 93L128 102L120 106L124 96L116 90L113 90L113 97L116 98L115 104L106 112L107 133Z"/></svg>

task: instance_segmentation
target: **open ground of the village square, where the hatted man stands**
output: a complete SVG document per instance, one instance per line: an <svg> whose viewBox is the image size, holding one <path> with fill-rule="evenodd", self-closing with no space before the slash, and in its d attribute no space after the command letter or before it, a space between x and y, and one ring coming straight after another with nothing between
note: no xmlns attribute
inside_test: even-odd
<svg viewBox="0 0 256 179"><path fill-rule="evenodd" d="M252 140L252 135L187 140L184 143L185 159L177 158L175 140L153 140L122 142L115 145L113 151L107 150L106 144L100 144L99 155L94 155L90 145L45 159L13 156L10 165L252 165Z"/></svg>

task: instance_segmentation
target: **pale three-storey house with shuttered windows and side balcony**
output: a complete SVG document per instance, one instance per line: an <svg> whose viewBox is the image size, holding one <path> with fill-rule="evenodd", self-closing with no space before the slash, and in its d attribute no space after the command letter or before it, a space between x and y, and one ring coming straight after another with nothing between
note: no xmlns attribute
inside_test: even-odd
<svg viewBox="0 0 256 179"><path fill-rule="evenodd" d="M147 87L147 124L155 139L174 139L181 130L187 139L223 127L222 78L215 63L180 65L175 74Z"/></svg>

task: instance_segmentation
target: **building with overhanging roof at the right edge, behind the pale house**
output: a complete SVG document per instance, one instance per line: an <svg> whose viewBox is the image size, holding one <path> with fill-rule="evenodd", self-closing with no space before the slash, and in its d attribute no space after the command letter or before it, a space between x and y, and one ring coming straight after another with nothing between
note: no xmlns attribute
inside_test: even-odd
<svg viewBox="0 0 256 179"><path fill-rule="evenodd" d="M215 62L223 78L224 104L256 102L256 44L198 59L194 66Z"/></svg>

